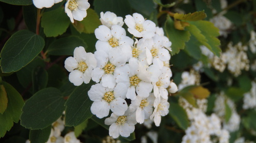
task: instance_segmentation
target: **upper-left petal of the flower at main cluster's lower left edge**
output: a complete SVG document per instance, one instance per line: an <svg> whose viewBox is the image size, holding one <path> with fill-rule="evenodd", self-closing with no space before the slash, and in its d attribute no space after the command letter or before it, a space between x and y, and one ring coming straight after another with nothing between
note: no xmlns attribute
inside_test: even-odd
<svg viewBox="0 0 256 143"><path fill-rule="evenodd" d="M100 101L106 90L100 83L92 85L91 89L88 91L88 96L92 101Z"/></svg>

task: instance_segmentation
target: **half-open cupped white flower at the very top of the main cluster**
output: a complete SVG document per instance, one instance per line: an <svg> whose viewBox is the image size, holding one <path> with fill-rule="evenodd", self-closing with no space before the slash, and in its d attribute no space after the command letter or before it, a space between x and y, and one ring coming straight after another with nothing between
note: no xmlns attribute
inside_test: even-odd
<svg viewBox="0 0 256 143"><path fill-rule="evenodd" d="M101 12L100 13L100 19L101 23L109 28L111 28L112 25L120 25L123 26L123 18L117 17L115 13L113 12Z"/></svg>

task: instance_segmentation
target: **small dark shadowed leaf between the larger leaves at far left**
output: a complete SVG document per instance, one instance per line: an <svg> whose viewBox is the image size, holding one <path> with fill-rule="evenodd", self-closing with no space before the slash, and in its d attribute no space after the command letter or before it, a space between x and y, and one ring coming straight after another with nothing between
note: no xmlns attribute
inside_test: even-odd
<svg viewBox="0 0 256 143"><path fill-rule="evenodd" d="M48 82L48 73L45 68L36 67L32 71L33 93L46 88Z"/></svg>

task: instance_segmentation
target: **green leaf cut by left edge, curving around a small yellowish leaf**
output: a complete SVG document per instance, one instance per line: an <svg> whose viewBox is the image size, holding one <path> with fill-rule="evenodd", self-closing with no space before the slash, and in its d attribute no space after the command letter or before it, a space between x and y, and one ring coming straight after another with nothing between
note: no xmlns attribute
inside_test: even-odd
<svg viewBox="0 0 256 143"><path fill-rule="evenodd" d="M0 113L0 137L5 136L6 131L9 131L13 122L17 123L19 121L21 109L24 105L22 96L7 82L3 81L4 88L7 93L8 104L5 112Z"/></svg>

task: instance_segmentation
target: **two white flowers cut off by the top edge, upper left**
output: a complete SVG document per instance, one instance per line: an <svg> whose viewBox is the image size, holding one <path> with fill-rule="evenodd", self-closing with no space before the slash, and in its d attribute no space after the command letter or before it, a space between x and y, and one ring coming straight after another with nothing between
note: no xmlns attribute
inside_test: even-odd
<svg viewBox="0 0 256 143"><path fill-rule="evenodd" d="M36 8L50 8L56 3L60 3L63 0L33 0L33 4ZM70 17L72 23L74 19L82 21L84 17L87 16L87 9L89 9L90 4L88 0L67 0L65 4L65 12Z"/></svg>

